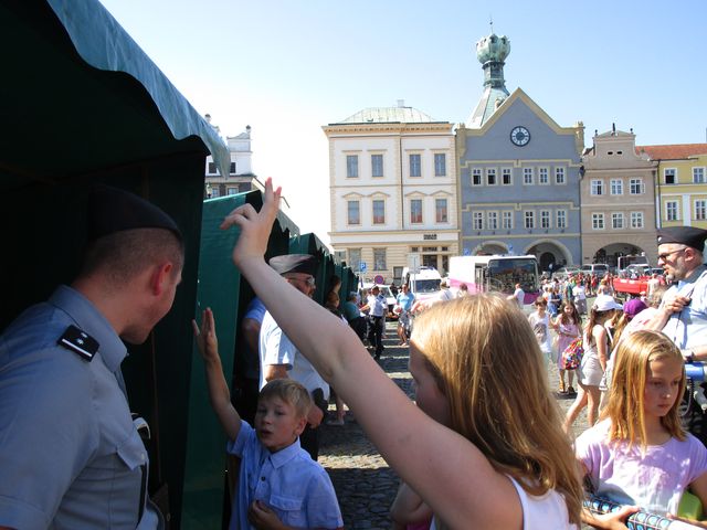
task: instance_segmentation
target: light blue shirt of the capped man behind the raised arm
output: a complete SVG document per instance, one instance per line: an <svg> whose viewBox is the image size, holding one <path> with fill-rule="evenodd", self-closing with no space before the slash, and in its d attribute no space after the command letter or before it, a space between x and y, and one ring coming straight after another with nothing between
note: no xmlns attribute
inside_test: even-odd
<svg viewBox="0 0 707 530"><path fill-rule="evenodd" d="M309 393L321 389L324 399L329 399L329 384L321 379L319 372L299 353L297 347L283 333L273 316L267 311L261 326L258 337L258 353L261 358L261 384L265 386L265 367L268 364L284 364L291 379L300 383Z"/></svg>

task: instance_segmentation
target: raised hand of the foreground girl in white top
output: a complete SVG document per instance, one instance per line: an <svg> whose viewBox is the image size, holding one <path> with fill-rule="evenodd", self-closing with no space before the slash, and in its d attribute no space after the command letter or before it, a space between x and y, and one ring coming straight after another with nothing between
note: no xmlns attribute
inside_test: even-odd
<svg viewBox="0 0 707 530"><path fill-rule="evenodd" d="M263 206L256 212L251 204L242 204L229 213L221 223L221 230L233 225L241 229L239 240L233 247L233 263L241 268L249 259L263 259L267 250L267 240L279 209L281 188L273 191L273 180L265 180Z"/></svg>

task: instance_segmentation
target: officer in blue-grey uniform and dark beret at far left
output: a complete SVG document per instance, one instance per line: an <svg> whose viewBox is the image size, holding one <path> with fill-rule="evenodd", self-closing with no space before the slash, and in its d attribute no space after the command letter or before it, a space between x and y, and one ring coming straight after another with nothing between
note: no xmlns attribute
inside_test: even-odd
<svg viewBox="0 0 707 530"><path fill-rule="evenodd" d="M0 528L156 529L147 452L120 363L171 308L183 246L165 212L122 190L88 199L71 285L0 337Z"/></svg>

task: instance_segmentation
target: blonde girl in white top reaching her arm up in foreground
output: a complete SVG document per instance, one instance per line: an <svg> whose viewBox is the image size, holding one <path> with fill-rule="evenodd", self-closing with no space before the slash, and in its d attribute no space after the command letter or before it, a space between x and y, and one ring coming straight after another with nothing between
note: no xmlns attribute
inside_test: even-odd
<svg viewBox="0 0 707 530"><path fill-rule="evenodd" d="M246 204L224 219L223 229L241 229L233 261L430 507L432 527L574 528L582 495L577 466L520 309L481 295L425 310L410 347L415 406L349 328L263 259L278 199L268 179L260 212Z"/></svg>

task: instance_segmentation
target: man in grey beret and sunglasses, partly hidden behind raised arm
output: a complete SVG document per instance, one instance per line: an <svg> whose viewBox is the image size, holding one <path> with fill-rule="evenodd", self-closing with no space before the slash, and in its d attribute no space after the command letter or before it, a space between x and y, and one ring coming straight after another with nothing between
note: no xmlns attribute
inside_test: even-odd
<svg viewBox="0 0 707 530"><path fill-rule="evenodd" d="M317 274L317 258L315 256L309 254L275 256L270 261L270 266L303 295L309 298L314 296L316 290L315 274ZM312 394L317 406L313 406L307 415L307 426L299 435L299 443L302 448L316 460L319 455L317 427L328 406L329 385L309 361L299 354L295 344L283 333L270 311L265 312L265 317L263 317L258 353L261 358L261 389L274 379L291 378L302 383Z"/></svg>

